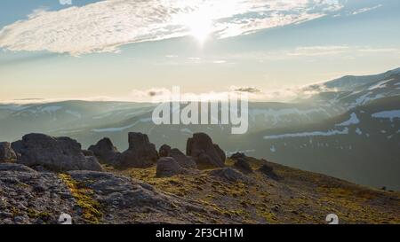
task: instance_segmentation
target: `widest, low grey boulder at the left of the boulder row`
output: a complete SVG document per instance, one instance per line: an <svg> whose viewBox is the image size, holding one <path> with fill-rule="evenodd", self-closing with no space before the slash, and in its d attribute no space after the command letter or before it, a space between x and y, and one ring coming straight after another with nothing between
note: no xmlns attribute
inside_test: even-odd
<svg viewBox="0 0 400 242"><path fill-rule="evenodd" d="M94 157L85 157L81 144L69 137L29 134L13 145L20 153L18 163L28 167L68 170L102 170Z"/></svg>

